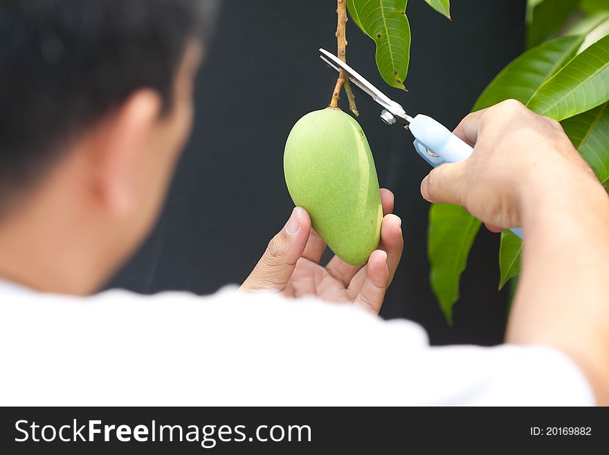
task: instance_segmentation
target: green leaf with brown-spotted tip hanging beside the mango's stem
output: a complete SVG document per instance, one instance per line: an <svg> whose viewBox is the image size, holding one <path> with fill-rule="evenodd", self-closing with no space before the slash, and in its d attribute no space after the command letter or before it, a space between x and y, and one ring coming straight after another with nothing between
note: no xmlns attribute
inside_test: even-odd
<svg viewBox="0 0 609 455"><path fill-rule="evenodd" d="M385 82L405 89L410 60L406 0L347 0L353 20L376 43L376 66Z"/></svg>

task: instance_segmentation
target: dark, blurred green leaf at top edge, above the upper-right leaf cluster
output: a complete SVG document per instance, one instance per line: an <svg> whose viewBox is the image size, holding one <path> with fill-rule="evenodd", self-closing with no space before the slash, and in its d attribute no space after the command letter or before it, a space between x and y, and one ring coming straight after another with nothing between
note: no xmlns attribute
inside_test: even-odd
<svg viewBox="0 0 609 455"><path fill-rule="evenodd" d="M531 48L556 35L579 9L581 0L544 0L529 10L527 47Z"/></svg>

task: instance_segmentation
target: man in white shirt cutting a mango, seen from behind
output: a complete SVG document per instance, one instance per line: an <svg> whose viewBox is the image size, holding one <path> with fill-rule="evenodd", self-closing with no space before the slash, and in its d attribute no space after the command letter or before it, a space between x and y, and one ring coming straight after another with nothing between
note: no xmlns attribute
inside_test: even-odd
<svg viewBox="0 0 609 455"><path fill-rule="evenodd" d="M430 348L375 316L403 246L388 190L365 267L320 267L295 208L250 294L91 296L154 224L188 136L195 5L0 6L1 404L609 403L608 196L560 125L513 101L466 117L471 159L421 184L523 227L505 346Z"/></svg>

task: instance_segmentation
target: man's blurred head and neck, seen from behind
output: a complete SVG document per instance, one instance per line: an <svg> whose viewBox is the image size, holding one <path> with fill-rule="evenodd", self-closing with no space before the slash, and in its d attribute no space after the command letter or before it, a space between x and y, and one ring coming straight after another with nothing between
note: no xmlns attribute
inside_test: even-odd
<svg viewBox="0 0 609 455"><path fill-rule="evenodd" d="M32 285L90 292L154 224L192 123L198 6L0 3L0 248L10 249L3 236L19 243L19 232L57 243L65 234L95 262L76 285ZM44 251L22 253L44 262ZM2 274L32 281L4 262Z"/></svg>

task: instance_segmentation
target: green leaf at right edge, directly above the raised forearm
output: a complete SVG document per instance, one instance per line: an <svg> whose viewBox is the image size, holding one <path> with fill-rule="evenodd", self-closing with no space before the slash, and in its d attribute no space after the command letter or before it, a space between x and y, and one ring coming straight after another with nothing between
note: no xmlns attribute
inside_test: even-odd
<svg viewBox="0 0 609 455"><path fill-rule="evenodd" d="M609 182L609 102L563 121L563 129L602 184Z"/></svg>

